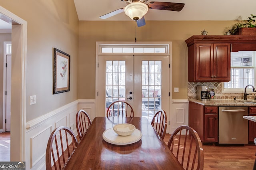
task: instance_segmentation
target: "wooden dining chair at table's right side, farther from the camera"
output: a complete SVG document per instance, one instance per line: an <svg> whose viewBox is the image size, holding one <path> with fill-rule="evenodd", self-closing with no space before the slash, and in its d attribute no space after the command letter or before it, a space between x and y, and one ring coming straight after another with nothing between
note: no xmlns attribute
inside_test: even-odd
<svg viewBox="0 0 256 170"><path fill-rule="evenodd" d="M167 115L164 110L160 110L154 115L151 121L151 125L154 127L156 132L158 132L160 137L164 140L167 128Z"/></svg>

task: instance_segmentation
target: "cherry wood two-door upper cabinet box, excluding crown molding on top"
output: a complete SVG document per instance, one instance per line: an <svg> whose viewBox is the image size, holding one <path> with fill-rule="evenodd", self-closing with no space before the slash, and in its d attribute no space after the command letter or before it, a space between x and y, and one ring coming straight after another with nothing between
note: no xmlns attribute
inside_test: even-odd
<svg viewBox="0 0 256 170"><path fill-rule="evenodd" d="M188 46L188 81L230 81L230 43L193 43Z"/></svg>

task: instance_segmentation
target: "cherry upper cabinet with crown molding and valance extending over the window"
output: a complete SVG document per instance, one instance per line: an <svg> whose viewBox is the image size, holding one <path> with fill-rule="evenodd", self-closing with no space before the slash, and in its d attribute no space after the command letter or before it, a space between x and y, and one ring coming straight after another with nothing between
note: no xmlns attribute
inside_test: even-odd
<svg viewBox="0 0 256 170"><path fill-rule="evenodd" d="M249 50L255 36L192 36L188 45L188 81L229 82L230 53L234 49ZM252 50L252 49L251 49Z"/></svg>

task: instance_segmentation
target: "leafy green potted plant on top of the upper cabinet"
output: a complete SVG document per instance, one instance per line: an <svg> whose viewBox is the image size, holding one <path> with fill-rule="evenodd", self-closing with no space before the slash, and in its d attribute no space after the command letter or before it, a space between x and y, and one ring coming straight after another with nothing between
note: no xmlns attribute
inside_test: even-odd
<svg viewBox="0 0 256 170"><path fill-rule="evenodd" d="M246 20L234 24L228 32L231 35L256 36L255 19L256 16L251 14Z"/></svg>

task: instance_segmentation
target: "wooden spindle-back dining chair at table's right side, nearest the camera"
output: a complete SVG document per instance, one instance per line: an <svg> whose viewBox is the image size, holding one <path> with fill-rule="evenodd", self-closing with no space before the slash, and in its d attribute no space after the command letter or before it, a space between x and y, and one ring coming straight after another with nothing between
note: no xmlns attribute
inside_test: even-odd
<svg viewBox="0 0 256 170"><path fill-rule="evenodd" d="M204 168L202 142L193 128L185 125L176 128L170 137L168 147L184 169Z"/></svg>

